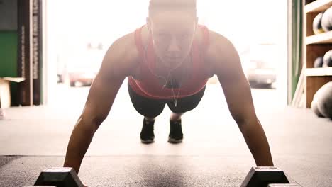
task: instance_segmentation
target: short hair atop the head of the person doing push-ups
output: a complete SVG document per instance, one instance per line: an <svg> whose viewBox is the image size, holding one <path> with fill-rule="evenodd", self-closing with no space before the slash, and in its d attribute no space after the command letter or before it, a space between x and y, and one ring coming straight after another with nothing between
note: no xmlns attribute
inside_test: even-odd
<svg viewBox="0 0 332 187"><path fill-rule="evenodd" d="M158 11L178 10L192 13L194 16L197 14L196 9L197 0L150 0L149 16Z"/></svg>

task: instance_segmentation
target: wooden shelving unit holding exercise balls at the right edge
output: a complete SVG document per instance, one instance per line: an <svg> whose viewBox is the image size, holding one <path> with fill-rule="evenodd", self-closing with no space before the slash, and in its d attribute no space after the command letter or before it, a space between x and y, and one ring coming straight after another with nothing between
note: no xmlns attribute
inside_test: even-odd
<svg viewBox="0 0 332 187"><path fill-rule="evenodd" d="M312 22L317 14L332 6L332 0L316 0L311 3L304 0L304 93L306 107L311 106L316 91L324 84L332 81L332 67L314 68L316 57L323 56L332 50L332 31L314 34Z"/></svg>

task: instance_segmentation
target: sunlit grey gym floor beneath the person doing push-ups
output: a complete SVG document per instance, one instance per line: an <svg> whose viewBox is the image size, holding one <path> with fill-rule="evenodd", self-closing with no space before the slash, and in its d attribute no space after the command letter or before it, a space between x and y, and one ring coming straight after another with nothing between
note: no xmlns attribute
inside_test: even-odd
<svg viewBox="0 0 332 187"><path fill-rule="evenodd" d="M0 120L0 186L33 185L43 169L62 166L86 95L86 88L75 89L57 94L57 106L6 109L6 120ZM60 101L63 96L70 102ZM331 187L332 121L308 109L282 107L275 96L274 90L253 89L275 166L302 186ZM94 135L79 172L88 186L233 187L255 166L220 86L207 86L199 106L183 116L179 145L167 143L167 107L156 120L155 143L141 144L143 118L128 99L122 86Z"/></svg>

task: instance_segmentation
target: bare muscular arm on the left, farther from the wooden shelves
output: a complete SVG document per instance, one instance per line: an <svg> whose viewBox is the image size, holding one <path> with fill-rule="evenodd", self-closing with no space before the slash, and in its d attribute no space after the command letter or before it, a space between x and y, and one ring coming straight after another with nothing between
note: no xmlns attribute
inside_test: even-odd
<svg viewBox="0 0 332 187"><path fill-rule="evenodd" d="M94 133L109 114L118 89L133 69L134 55L128 52L128 49L132 48L131 42L128 42L131 40L130 37L126 35L120 38L106 52L99 73L92 83L84 110L72 130L64 166L74 168L77 173Z"/></svg>

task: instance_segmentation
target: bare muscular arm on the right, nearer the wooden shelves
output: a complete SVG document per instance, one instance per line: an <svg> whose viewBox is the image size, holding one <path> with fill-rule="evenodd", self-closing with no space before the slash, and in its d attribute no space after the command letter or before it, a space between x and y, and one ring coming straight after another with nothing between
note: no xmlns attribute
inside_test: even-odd
<svg viewBox="0 0 332 187"><path fill-rule="evenodd" d="M255 114L250 86L240 64L238 52L231 42L221 35L214 35L210 61L223 88L229 111L257 166L273 166L270 147L265 132Z"/></svg>

